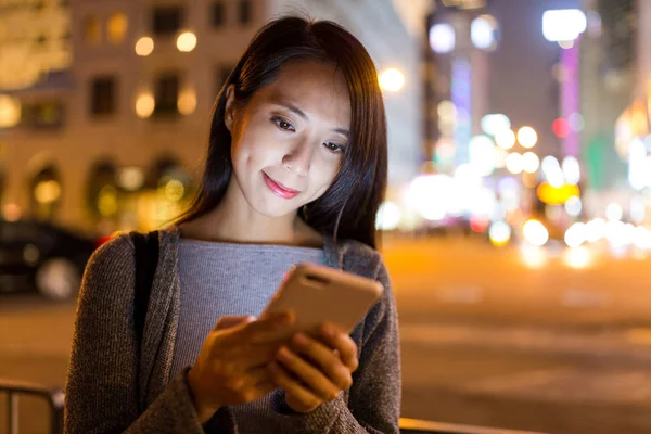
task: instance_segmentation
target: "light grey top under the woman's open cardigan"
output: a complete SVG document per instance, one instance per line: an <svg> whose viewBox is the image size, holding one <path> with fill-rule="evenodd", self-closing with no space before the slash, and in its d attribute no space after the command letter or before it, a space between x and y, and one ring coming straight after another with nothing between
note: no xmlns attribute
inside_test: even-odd
<svg viewBox="0 0 651 434"><path fill-rule="evenodd" d="M322 248L181 240L181 306L171 374L192 366L215 322L258 317L290 267L324 264Z"/></svg>

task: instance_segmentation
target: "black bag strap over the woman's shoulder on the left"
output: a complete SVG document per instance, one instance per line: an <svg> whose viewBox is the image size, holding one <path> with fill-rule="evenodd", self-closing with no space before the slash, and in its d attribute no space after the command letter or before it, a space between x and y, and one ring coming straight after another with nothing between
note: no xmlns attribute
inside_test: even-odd
<svg viewBox="0 0 651 434"><path fill-rule="evenodd" d="M136 251L136 288L133 297L133 323L138 346L142 343L144 319L149 306L154 275L158 265L158 231L146 234L131 232Z"/></svg>

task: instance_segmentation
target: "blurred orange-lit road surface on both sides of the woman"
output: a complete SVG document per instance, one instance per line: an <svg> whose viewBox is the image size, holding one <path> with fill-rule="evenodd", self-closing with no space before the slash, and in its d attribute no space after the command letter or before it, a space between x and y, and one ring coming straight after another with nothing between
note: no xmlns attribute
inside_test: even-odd
<svg viewBox="0 0 651 434"><path fill-rule="evenodd" d="M386 240L403 416L549 433L648 433L649 261L522 265L480 240ZM63 385L75 305L0 301L0 378ZM46 408L26 400L24 429ZM0 401L4 407L4 401ZM4 416L2 416L3 418ZM2 426L0 420L0 426ZM1 433L2 431L0 431Z"/></svg>

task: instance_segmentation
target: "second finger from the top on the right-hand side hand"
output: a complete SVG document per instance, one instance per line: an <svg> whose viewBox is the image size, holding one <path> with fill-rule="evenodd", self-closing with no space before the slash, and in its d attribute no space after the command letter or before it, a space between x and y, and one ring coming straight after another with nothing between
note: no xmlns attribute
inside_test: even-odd
<svg viewBox="0 0 651 434"><path fill-rule="evenodd" d="M350 369L342 362L339 355L321 342L296 333L292 340L292 349L312 361L340 390L344 391L353 385Z"/></svg>

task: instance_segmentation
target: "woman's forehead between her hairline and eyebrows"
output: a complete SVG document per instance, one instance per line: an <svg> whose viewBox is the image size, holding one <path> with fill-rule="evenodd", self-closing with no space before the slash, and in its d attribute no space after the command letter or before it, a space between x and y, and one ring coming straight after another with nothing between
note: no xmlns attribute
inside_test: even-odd
<svg viewBox="0 0 651 434"><path fill-rule="evenodd" d="M328 117L339 126L348 127L350 123L346 80L334 65L290 63L281 67L278 78L258 93L265 102L291 102L308 115Z"/></svg>

